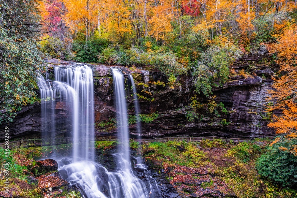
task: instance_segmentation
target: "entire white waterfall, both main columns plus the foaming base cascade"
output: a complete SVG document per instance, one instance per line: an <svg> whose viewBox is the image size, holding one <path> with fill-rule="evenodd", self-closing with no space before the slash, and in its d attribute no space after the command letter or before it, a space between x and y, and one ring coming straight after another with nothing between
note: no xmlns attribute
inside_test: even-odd
<svg viewBox="0 0 297 198"><path fill-rule="evenodd" d="M119 69L112 68L115 103L117 109L118 132L121 148L116 153L117 169L109 172L94 162L94 83L92 69L88 66L55 67L55 81L40 77L38 85L42 98L42 115L54 116L57 102L67 105L72 114L72 134L74 138L71 159L60 159L59 172L70 185L77 186L84 198L149 198L160 197L154 191L154 179L145 175L145 181L133 174L130 160L129 128L124 76ZM136 91L135 91L136 92ZM55 133L52 132L52 136ZM90 144L92 142L92 145ZM137 164L138 170L146 168ZM152 185L151 181L154 183ZM153 189L154 188L154 189Z"/></svg>

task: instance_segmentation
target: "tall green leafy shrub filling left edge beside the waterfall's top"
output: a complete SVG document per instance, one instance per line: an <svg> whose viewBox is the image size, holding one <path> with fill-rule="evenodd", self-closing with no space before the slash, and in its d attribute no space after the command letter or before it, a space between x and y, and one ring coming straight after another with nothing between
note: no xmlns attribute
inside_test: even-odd
<svg viewBox="0 0 297 198"><path fill-rule="evenodd" d="M37 101L37 70L45 66L37 43L41 32L38 4L37 0L0 4L0 123L11 122L21 105Z"/></svg>

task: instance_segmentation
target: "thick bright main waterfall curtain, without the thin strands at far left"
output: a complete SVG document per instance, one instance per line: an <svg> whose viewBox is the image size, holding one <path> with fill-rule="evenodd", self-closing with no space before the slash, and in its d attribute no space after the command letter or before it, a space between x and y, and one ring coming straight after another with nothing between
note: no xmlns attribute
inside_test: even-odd
<svg viewBox="0 0 297 198"><path fill-rule="evenodd" d="M94 149L90 142L94 141L94 83L92 69L86 65L55 67L55 80L71 86L77 94L73 106L73 160L79 158L94 160Z"/></svg>

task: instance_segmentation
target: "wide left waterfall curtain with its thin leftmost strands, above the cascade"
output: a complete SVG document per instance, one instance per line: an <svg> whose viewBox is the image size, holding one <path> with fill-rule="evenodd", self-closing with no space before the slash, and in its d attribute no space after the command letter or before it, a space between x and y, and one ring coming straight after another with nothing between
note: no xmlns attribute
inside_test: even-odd
<svg viewBox="0 0 297 198"><path fill-rule="evenodd" d="M48 76L48 75L47 75ZM54 67L55 81L39 78L43 137L54 137L55 105L63 102L72 114L73 161L78 159L94 161L94 83L92 69L86 65ZM52 83L52 85L51 85ZM50 118L51 117L51 118ZM50 118L50 119L49 119ZM49 131L50 129L50 131ZM51 134L51 135L49 135ZM91 148L91 151L89 151Z"/></svg>

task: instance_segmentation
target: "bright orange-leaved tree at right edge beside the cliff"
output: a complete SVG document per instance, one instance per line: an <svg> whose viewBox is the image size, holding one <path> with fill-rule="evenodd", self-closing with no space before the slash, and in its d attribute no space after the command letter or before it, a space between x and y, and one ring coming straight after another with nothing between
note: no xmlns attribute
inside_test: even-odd
<svg viewBox="0 0 297 198"><path fill-rule="evenodd" d="M279 71L273 77L274 84L270 90L274 104L267 107L268 111L281 111L274 114L274 127L277 134L297 137L297 28L287 28L275 44L267 45L270 53L277 53L276 64Z"/></svg>

